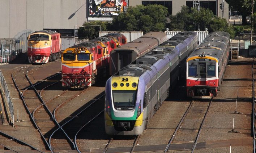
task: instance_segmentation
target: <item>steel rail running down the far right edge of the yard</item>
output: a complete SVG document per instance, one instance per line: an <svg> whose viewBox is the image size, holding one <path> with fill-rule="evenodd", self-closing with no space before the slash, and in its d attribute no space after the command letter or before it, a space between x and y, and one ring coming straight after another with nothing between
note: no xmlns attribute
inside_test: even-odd
<svg viewBox="0 0 256 153"><path fill-rule="evenodd" d="M253 62L252 62L252 131L253 131L253 153L255 153L255 87L254 87L254 62L255 62L255 58L253 58Z"/></svg>

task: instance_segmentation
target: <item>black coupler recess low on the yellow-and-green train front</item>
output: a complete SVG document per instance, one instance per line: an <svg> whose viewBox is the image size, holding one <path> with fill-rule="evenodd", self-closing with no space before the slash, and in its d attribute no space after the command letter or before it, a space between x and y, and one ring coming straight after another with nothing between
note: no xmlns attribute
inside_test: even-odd
<svg viewBox="0 0 256 153"><path fill-rule="evenodd" d="M113 121L116 131L131 131L136 121Z"/></svg>

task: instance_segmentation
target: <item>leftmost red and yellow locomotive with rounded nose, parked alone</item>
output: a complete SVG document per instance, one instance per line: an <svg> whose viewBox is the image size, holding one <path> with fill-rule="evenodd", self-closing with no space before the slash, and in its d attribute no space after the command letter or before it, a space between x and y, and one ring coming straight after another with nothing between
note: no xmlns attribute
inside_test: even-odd
<svg viewBox="0 0 256 153"><path fill-rule="evenodd" d="M60 33L41 30L27 37L27 58L29 63L48 63L61 55Z"/></svg>

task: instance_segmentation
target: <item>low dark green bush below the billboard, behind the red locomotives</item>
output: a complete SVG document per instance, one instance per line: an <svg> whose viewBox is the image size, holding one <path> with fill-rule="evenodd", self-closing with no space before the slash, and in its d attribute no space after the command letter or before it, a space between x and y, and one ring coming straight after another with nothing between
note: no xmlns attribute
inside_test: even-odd
<svg viewBox="0 0 256 153"><path fill-rule="evenodd" d="M78 28L78 39L94 39L99 37L99 31L107 30L107 24L107 22L102 21L85 22L83 26L88 27Z"/></svg>

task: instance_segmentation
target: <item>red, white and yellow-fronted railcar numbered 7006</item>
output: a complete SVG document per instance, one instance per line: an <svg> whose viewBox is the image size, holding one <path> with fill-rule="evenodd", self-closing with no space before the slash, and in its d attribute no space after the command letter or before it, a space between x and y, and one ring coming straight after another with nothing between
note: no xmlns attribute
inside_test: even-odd
<svg viewBox="0 0 256 153"><path fill-rule="evenodd" d="M186 60L187 96L210 99L217 96L229 59L230 35L209 33Z"/></svg>

